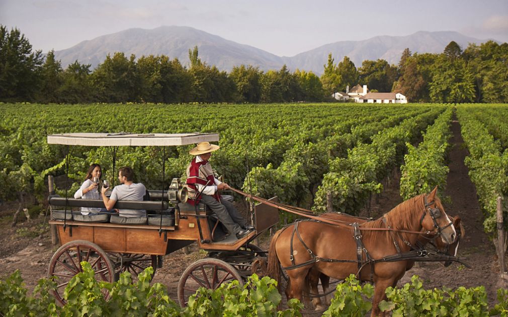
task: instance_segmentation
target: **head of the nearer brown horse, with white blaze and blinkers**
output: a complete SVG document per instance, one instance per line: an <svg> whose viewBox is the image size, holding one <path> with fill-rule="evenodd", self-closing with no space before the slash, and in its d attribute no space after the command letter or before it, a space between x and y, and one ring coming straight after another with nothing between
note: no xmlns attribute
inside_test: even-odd
<svg viewBox="0 0 508 317"><path fill-rule="evenodd" d="M457 238L455 226L448 215L444 212L441 200L436 196L437 186L429 195L424 195L425 210L423 211L420 224L430 233L441 236L444 243L452 244Z"/></svg>

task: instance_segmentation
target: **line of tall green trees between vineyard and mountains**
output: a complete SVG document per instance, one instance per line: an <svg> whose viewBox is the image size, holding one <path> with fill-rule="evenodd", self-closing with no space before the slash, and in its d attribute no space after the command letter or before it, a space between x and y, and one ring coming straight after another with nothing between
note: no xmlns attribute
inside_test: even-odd
<svg viewBox="0 0 508 317"><path fill-rule="evenodd" d="M411 102L508 102L508 44L456 43L440 54L402 53L398 65L384 59L356 67L347 56L335 64L330 53L323 75L286 65L263 72L252 65L228 73L189 49L189 65L165 55L136 58L108 54L95 69L74 63L63 69L54 51L33 51L19 29L0 25L0 101L89 102L297 102L327 101L357 84L373 92L401 92Z"/></svg>

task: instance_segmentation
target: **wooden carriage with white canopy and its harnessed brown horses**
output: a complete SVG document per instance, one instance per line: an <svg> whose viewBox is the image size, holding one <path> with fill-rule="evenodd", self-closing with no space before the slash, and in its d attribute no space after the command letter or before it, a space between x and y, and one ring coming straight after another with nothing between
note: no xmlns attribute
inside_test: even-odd
<svg viewBox="0 0 508 317"><path fill-rule="evenodd" d="M48 135L48 144L68 148L112 147L113 170L119 146L166 147L217 140L218 134L213 133ZM69 158L68 154L67 161ZM163 183L164 161L165 158ZM168 190L150 191L149 196L156 200L117 201L114 207L153 210L152 215L118 221L122 217L109 214L86 217L72 210L73 207L104 207L102 200L50 195L50 224L57 227L61 246L50 261L48 275L56 279L54 295L60 303L69 280L81 271L81 261L88 261L101 280L114 281L123 271L131 272L136 278L147 266L151 265L154 270L160 268L162 256L193 242L207 251L208 257L192 263L181 275L177 291L182 306L199 287L214 289L234 279L243 284L255 257L266 257L266 252L249 242L278 223L279 209L311 219L279 230L270 244L268 274L277 278L280 267L285 269L289 278L288 298L302 299L303 288L307 286L316 294L318 279L325 286L330 276L343 279L356 273L362 280L376 284L373 314L377 314L377 304L386 287L394 286L415 261L460 261L467 265L456 257L460 220L457 222L446 215L436 190L401 203L373 222L343 219L342 215L317 217L310 210L249 195L262 204L254 208L255 231L240 239L233 234L219 238L221 234L216 231L217 220L211 210L203 204L186 203L178 179L172 180ZM442 253L430 256L418 246L419 238L424 244L442 242ZM314 303L319 305L319 299Z"/></svg>

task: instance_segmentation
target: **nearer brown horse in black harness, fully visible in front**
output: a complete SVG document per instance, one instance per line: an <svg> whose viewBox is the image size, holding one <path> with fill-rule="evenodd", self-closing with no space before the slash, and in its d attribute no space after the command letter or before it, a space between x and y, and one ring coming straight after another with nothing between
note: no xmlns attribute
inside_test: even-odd
<svg viewBox="0 0 508 317"><path fill-rule="evenodd" d="M357 274L361 280L374 282L371 315L379 315L378 304L385 299L386 288L395 286L407 267L407 261L383 261L397 255L395 242L400 252L408 252L422 230L439 234L444 243L455 241L455 227L436 191L408 199L384 217L363 223L356 236L352 226L316 221L300 221L280 229L270 241L268 275L280 284L280 266L285 268L291 285L286 295L302 300L311 269L337 279ZM358 240L361 245L355 242Z"/></svg>

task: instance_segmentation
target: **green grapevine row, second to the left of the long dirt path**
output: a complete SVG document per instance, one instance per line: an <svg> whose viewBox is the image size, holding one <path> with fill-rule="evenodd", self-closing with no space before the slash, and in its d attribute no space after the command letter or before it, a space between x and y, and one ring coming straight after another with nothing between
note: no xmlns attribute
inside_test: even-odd
<svg viewBox="0 0 508 317"><path fill-rule="evenodd" d="M312 208L324 212L327 194L330 193L334 210L358 213L371 193L382 190L379 182L400 162L406 143L414 142L419 132L443 110L443 107L435 107L429 112L405 119L400 125L372 136L371 144L359 144L348 150L347 158L331 161L330 171L324 175Z"/></svg>

